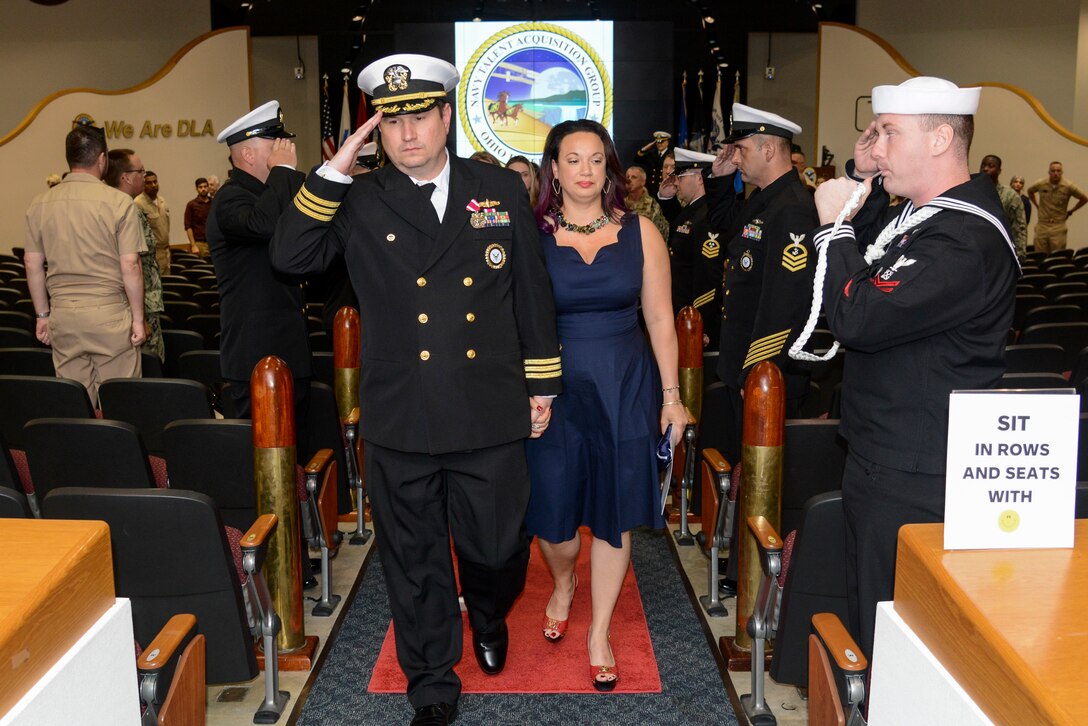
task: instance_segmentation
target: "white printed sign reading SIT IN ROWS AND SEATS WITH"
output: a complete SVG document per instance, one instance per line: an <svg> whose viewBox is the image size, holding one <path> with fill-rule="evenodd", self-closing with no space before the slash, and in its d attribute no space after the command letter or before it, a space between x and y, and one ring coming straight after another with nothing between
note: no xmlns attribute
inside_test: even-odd
<svg viewBox="0 0 1088 726"><path fill-rule="evenodd" d="M944 549L1072 547L1080 397L954 391Z"/></svg>

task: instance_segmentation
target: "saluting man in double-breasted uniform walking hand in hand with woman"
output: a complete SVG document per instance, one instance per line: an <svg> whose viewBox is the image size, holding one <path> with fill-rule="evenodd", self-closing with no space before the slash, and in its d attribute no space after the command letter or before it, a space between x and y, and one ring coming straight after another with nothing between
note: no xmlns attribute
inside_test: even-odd
<svg viewBox="0 0 1088 726"><path fill-rule="evenodd" d="M457 70L425 56L371 63L376 113L306 181L272 259L307 273L343 255L362 317L360 430L397 659L413 724L456 712L461 616L449 538L487 674L524 586L523 439L560 391L552 287L521 179L445 147ZM382 134L388 163L347 175Z"/></svg>

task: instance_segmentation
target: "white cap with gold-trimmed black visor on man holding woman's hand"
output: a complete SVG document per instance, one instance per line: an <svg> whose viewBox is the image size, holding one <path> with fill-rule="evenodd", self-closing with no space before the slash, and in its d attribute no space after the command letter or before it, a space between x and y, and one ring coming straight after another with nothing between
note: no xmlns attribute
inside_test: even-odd
<svg viewBox="0 0 1088 726"><path fill-rule="evenodd" d="M397 53L379 59L359 74L359 88L385 115L426 111L457 87L453 64L430 56Z"/></svg>

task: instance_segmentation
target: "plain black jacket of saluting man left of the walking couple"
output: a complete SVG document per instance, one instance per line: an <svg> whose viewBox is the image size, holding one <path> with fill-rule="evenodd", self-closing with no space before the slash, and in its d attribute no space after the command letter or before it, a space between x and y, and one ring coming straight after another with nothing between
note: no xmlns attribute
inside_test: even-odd
<svg viewBox="0 0 1088 726"><path fill-rule="evenodd" d="M301 172L276 167L267 183L240 169L215 194L208 248L219 285L220 368L248 381L264 356L279 356L293 376L310 376L310 341L300 280L276 272L269 241L280 213L302 185Z"/></svg>

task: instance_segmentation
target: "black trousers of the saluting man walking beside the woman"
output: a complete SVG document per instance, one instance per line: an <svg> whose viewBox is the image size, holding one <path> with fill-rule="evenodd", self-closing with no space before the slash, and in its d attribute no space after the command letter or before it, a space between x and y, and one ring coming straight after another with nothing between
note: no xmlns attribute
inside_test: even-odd
<svg viewBox="0 0 1088 726"><path fill-rule="evenodd" d="M493 631L526 585L524 443L431 455L367 441L363 466L408 700L456 703L462 639L449 539L469 622Z"/></svg>

